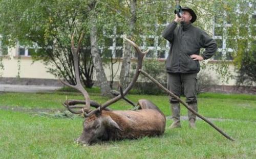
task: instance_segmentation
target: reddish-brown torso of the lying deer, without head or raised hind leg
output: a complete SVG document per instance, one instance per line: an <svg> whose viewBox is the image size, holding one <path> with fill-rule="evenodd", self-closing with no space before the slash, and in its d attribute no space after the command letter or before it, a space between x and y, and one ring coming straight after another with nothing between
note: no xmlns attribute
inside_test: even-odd
<svg viewBox="0 0 256 159"><path fill-rule="evenodd" d="M103 114L110 116L121 129L108 129L110 139L133 139L164 133L166 119L157 110L104 111Z"/></svg>

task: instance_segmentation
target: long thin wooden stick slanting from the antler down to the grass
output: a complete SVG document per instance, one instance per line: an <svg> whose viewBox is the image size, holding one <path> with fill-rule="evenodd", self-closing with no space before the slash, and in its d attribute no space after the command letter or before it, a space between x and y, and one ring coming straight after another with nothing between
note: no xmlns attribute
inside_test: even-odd
<svg viewBox="0 0 256 159"><path fill-rule="evenodd" d="M144 72L143 70L139 70L143 75L145 75L146 77L150 78L150 80L155 83L158 87L160 87L162 90L164 90L166 93L168 93L170 96L174 97L175 99L177 99L179 102L181 102L189 111L193 112L195 115L197 115L199 118L203 119L205 122L207 122L209 125L211 125L212 127L214 127L217 131L219 131L224 137L226 137L227 139L234 141L234 139L232 139L231 137L229 137L226 133L224 133L224 131L222 131L219 127L217 127L214 123L210 122L208 119L206 119L205 117L203 117L202 115L198 114L196 111L194 111L193 109L189 108L187 103L185 103L184 101L182 101L178 96L176 96L175 94L173 94L172 92L170 92L169 90L167 90L163 85L161 85L158 81L156 81L152 76L150 76L149 74L147 74L146 72Z"/></svg>

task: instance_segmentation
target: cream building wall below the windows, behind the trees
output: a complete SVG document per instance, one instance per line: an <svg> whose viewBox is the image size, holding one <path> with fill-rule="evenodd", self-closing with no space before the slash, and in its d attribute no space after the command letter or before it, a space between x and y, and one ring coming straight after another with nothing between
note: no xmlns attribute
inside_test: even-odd
<svg viewBox="0 0 256 159"><path fill-rule="evenodd" d="M18 57L17 48L9 48L8 57L3 58L4 70L2 70L2 77L16 77L18 75ZM132 60L132 63L135 63L136 60ZM161 62L165 62L161 60ZM234 86L236 85L236 80L230 79L228 82L223 82L223 80L219 77L220 75L214 70L210 68L215 68L218 65L218 62L213 60L207 60L206 69L202 69L200 73L208 75L216 82L217 85L226 85L226 86ZM122 63L116 63L114 65L114 72L116 73L115 81L119 81L119 75L121 70ZM163 68L165 69L165 68ZM104 64L104 71L108 80L110 80L111 69L110 64ZM236 75L234 72L234 66L229 65L229 71L232 75ZM55 79L52 74L47 72L46 66L41 61L33 62L31 57L21 57L20 58L20 70L19 70L20 78L40 78L40 79ZM94 77L96 81L96 77Z"/></svg>

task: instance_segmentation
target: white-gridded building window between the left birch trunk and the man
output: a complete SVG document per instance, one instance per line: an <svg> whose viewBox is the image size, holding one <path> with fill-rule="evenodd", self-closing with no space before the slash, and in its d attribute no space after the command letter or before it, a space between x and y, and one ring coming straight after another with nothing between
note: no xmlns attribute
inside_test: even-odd
<svg viewBox="0 0 256 159"><path fill-rule="evenodd" d="M165 28L165 24L159 24L156 28L157 31ZM102 56L105 58L122 58L123 57L123 32L120 26L115 26L113 30L103 30L104 41L103 46L99 46ZM158 34L161 35L161 34ZM141 50L150 49L150 52L147 53L146 58L160 58L166 59L168 56L169 43L163 39L161 36L152 35L152 36L143 36L134 41ZM133 54L132 57L137 58L136 54Z"/></svg>

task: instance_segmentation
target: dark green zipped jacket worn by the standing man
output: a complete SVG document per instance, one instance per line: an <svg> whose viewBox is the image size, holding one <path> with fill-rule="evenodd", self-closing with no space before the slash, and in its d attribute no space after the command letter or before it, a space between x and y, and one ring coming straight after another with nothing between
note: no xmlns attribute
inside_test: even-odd
<svg viewBox="0 0 256 159"><path fill-rule="evenodd" d="M217 43L203 30L190 24L181 24L173 21L163 31L162 36L170 42L170 51L166 60L168 73L195 73L200 71L198 60L190 55L200 53L205 48L204 59L212 57L217 50Z"/></svg>

